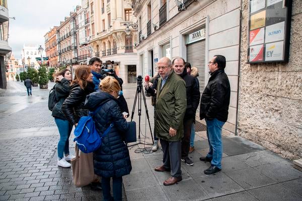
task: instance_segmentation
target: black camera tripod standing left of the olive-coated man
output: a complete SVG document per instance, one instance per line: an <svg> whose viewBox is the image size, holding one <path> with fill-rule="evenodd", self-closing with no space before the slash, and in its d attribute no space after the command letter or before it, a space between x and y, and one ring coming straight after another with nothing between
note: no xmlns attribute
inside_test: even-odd
<svg viewBox="0 0 302 201"><path fill-rule="evenodd" d="M138 97L138 139L140 139L140 116L141 116L141 96L142 96L144 107L145 107L145 110L146 110L146 116L147 116L147 119L148 119L149 129L150 129L150 133L151 133L152 144L141 143L141 142L138 142L137 144L153 145L154 144L153 134L152 134L152 129L151 129L151 125L150 125L148 109L147 109L147 105L146 105L146 98L145 98L144 91L142 89L142 77L141 77L141 75L138 75L136 79L137 79L137 88L136 88L134 104L133 104L133 108L132 108L131 121L133 120L135 105L136 105L136 101L137 101L137 97ZM133 145L131 145L131 146L133 146Z"/></svg>

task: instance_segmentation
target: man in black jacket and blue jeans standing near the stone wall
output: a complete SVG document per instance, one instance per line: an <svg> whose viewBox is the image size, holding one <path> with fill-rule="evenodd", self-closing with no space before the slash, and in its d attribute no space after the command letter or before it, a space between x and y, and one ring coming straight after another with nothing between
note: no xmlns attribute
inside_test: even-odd
<svg viewBox="0 0 302 201"><path fill-rule="evenodd" d="M205 174L214 174L221 170L222 141L221 129L228 120L231 87L228 76L224 72L225 57L215 55L208 67L211 77L200 100L200 119L205 119L209 152L201 161L211 162L204 170Z"/></svg>

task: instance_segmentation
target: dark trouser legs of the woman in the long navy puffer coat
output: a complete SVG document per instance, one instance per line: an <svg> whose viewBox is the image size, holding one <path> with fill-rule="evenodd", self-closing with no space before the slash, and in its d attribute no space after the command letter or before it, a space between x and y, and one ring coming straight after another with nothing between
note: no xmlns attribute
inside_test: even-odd
<svg viewBox="0 0 302 201"><path fill-rule="evenodd" d="M102 177L102 191L104 201L122 201L122 177L112 177L113 197L110 194L110 178Z"/></svg>

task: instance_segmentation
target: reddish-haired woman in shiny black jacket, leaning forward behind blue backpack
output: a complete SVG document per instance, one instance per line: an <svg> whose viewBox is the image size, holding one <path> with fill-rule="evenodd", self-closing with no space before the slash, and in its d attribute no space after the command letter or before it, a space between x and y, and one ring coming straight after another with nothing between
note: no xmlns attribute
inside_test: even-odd
<svg viewBox="0 0 302 201"><path fill-rule="evenodd" d="M81 117L88 116L89 111L85 107L86 96L94 92L92 73L88 66L79 66L75 70L74 79L70 85L68 97L62 104L62 112L70 124L77 126ZM102 189L99 181L91 184L93 190Z"/></svg>

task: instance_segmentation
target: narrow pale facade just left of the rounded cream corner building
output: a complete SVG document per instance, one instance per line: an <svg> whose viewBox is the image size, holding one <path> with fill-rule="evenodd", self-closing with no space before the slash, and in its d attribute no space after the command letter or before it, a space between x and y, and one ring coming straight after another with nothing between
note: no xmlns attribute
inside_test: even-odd
<svg viewBox="0 0 302 201"><path fill-rule="evenodd" d="M87 64L92 57L92 48L89 44L91 38L91 12L89 1L82 0L81 9L77 11L77 35L78 35L78 62ZM93 15L93 13L92 13Z"/></svg>

